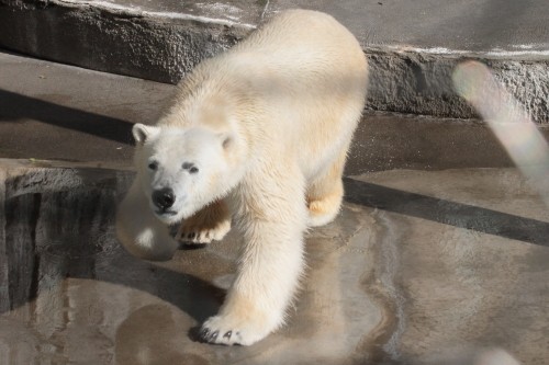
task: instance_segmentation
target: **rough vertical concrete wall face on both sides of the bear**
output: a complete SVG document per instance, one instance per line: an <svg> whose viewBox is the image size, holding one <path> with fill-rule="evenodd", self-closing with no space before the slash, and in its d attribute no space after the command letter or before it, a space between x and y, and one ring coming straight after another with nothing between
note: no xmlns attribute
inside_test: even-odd
<svg viewBox="0 0 549 365"><path fill-rule="evenodd" d="M4 48L168 83L178 82L197 62L227 49L254 28L236 21L188 14L169 18L92 2L0 1L4 4L0 8L0 46ZM254 13L251 24L260 21L262 14L249 12ZM365 47L371 65L369 109L477 117L451 85L456 65L473 58L494 70L534 121L549 123L549 56L544 53L535 59L518 59L505 53Z"/></svg>

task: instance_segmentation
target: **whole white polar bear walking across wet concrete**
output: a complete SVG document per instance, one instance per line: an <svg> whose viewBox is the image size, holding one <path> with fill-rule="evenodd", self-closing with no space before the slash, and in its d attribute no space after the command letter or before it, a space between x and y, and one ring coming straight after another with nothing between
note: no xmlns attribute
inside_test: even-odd
<svg viewBox="0 0 549 365"><path fill-rule="evenodd" d="M243 235L238 270L211 343L249 345L284 322L303 270L303 233L329 223L363 109L368 66L332 16L279 13L178 85L157 126L136 124L137 176L119 207L117 236L133 254L169 259L181 240Z"/></svg>

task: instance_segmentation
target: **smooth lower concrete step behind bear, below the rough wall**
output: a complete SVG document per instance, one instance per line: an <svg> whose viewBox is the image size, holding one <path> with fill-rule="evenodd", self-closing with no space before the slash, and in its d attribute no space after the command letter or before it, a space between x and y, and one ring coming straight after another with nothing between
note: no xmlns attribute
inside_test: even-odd
<svg viewBox="0 0 549 365"><path fill-rule="evenodd" d="M133 123L155 123L171 84L0 53L0 157L132 166ZM549 128L540 130L549 139ZM450 119L368 112L347 173L391 169L508 167L489 127Z"/></svg>

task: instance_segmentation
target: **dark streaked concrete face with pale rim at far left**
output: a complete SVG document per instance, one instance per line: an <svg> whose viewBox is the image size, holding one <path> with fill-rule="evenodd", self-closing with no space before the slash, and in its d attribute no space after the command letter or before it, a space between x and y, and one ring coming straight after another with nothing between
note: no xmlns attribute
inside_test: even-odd
<svg viewBox="0 0 549 365"><path fill-rule="evenodd" d="M110 239L114 181L75 186L82 179L74 170L54 170L47 178L41 172L5 181L2 243L8 277L2 284L9 289L2 297L3 311L36 298L67 276L93 277L97 258L115 247Z"/></svg>

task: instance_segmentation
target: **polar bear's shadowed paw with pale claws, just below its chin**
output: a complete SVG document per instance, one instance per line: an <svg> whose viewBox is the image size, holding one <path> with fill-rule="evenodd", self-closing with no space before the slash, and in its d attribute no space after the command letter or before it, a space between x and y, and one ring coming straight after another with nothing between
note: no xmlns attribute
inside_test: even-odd
<svg viewBox="0 0 549 365"><path fill-rule="evenodd" d="M221 240L231 230L231 212L224 201L213 202L184 219L176 239L184 243L210 243Z"/></svg>

